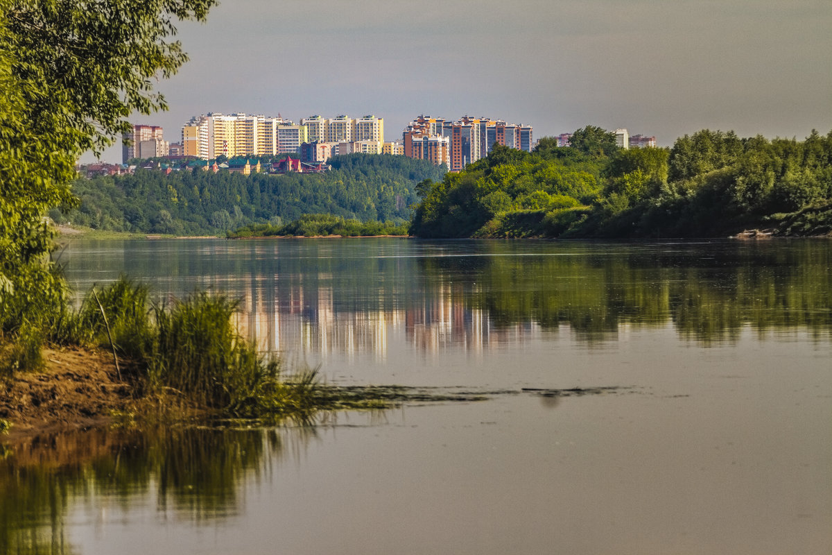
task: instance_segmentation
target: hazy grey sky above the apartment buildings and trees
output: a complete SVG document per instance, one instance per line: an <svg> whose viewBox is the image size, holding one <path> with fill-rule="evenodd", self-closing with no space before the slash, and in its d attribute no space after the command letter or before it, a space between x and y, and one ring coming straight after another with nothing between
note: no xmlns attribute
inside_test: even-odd
<svg viewBox="0 0 832 555"><path fill-rule="evenodd" d="M220 2L178 25L191 60L157 84L169 110L134 123L171 142L210 111L374 114L387 141L420 114L527 124L535 139L626 127L660 146L706 128L832 131L830 0Z"/></svg>

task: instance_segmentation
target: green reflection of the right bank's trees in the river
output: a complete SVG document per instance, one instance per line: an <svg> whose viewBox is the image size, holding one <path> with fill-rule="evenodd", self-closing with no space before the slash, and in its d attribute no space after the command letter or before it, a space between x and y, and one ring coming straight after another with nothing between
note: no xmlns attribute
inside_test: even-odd
<svg viewBox="0 0 832 555"><path fill-rule="evenodd" d="M622 323L666 325L711 341L744 325L762 332L832 329L832 245L828 241L712 245L567 244L559 255L501 256L510 245L482 245L488 265L467 275L464 259L420 260L425 275L463 280L454 301L486 310L494 325L567 324L600 339ZM585 252L581 252L585 251Z"/></svg>

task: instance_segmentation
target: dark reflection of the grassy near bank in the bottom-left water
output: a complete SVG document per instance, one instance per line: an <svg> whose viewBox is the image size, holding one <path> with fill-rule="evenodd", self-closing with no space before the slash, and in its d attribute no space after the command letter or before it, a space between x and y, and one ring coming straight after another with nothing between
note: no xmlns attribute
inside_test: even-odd
<svg viewBox="0 0 832 555"><path fill-rule="evenodd" d="M0 553L74 553L71 502L105 495L123 510L156 491L158 510L201 521L238 510L243 480L280 454L272 430L97 430L37 439L0 462Z"/></svg>

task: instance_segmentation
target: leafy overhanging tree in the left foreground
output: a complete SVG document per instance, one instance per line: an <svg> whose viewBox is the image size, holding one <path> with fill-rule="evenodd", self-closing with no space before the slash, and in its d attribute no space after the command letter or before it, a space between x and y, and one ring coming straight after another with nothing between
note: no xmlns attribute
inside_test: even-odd
<svg viewBox="0 0 832 555"><path fill-rule="evenodd" d="M42 215L75 202L78 156L112 144L134 111L166 108L153 80L186 62L175 22L203 21L215 3L0 0L0 343L31 335L25 360L3 362L0 344L0 369L36 362L32 330L62 300Z"/></svg>

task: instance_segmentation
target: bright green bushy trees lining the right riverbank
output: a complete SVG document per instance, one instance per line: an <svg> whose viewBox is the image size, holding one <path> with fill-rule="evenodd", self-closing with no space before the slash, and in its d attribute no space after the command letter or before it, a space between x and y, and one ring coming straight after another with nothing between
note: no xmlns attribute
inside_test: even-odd
<svg viewBox="0 0 832 555"><path fill-rule="evenodd" d="M697 131L672 148L618 148L587 126L572 146L496 146L418 185L422 237L703 237L832 232L832 132L805 141Z"/></svg>

